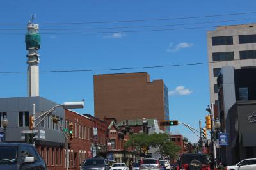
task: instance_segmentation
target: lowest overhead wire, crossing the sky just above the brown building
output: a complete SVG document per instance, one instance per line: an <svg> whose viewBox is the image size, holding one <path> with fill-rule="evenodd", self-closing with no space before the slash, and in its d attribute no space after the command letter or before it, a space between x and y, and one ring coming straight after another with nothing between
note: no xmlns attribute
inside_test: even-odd
<svg viewBox="0 0 256 170"><path fill-rule="evenodd" d="M234 59L237 61L240 59ZM209 63L220 63L222 61L209 61L200 63L184 63L177 65L161 65L161 66L139 66L139 67L127 67L127 68L102 68L102 69L88 69L88 70L49 70L49 71L38 71L39 73L56 73L56 72L97 72L97 71L113 71L113 70L134 70L134 69L145 69L145 68L167 68L175 66L193 66L193 65L205 65ZM0 72L0 73L28 73L28 71L12 71L12 72Z"/></svg>

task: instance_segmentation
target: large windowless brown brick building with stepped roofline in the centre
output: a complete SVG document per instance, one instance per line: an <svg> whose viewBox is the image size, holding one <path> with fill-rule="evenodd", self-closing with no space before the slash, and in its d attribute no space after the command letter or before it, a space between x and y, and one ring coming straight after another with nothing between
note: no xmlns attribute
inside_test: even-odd
<svg viewBox="0 0 256 170"><path fill-rule="evenodd" d="M94 75L94 111L97 118L116 118L118 122L169 120L168 88L163 80L150 82L147 72Z"/></svg>

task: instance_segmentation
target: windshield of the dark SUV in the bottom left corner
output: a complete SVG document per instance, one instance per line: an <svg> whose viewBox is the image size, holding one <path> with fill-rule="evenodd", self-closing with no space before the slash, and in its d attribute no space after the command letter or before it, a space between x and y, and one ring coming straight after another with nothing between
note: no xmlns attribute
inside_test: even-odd
<svg viewBox="0 0 256 170"><path fill-rule="evenodd" d="M17 146L0 146L0 164L12 164L17 160Z"/></svg>

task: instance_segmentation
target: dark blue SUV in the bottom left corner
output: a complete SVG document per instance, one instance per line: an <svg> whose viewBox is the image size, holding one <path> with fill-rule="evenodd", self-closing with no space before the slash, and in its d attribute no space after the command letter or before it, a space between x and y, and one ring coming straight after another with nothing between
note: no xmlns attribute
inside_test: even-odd
<svg viewBox="0 0 256 170"><path fill-rule="evenodd" d="M0 143L0 169L46 170L47 167L32 144Z"/></svg>

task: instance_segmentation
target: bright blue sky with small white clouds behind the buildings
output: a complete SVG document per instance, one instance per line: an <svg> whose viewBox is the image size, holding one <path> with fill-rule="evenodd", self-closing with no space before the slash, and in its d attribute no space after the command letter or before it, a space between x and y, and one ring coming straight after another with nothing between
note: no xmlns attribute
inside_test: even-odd
<svg viewBox="0 0 256 170"><path fill-rule="evenodd" d="M130 68L141 66L176 65L207 61L206 31L214 26L255 22L255 13L195 19L154 20L148 22L115 22L102 24L56 24L67 22L102 22L116 20L166 19L255 12L255 1L1 1L0 2L0 72L26 71L24 34L31 14L36 13L42 39L40 70L88 70ZM255 17L256 18L256 17ZM218 22L223 20L240 20ZM141 27L190 24L166 27ZM9 24L8 24L9 23ZM16 24L21 25L16 25ZM55 24L46 24L55 23ZM130 27L129 29L88 29ZM169 31L127 33L148 29L177 29ZM10 31L10 29L21 29ZM51 30L44 29L83 29ZM94 33L108 31L113 33ZM76 33L70 33L76 32ZM8 33L8 34L6 34ZM17 33L17 34L16 34ZM45 34L53 33L53 34ZM69 34L67 34L69 33ZM94 114L93 75L104 73L148 72L151 80L163 79L170 91L170 118L193 127L205 121L209 104L207 65L179 66L97 72L40 73L40 95L58 103L84 98L86 107L77 110ZM0 73L0 97L27 95L26 73ZM196 136L179 125L172 132L180 132L190 141Z"/></svg>

